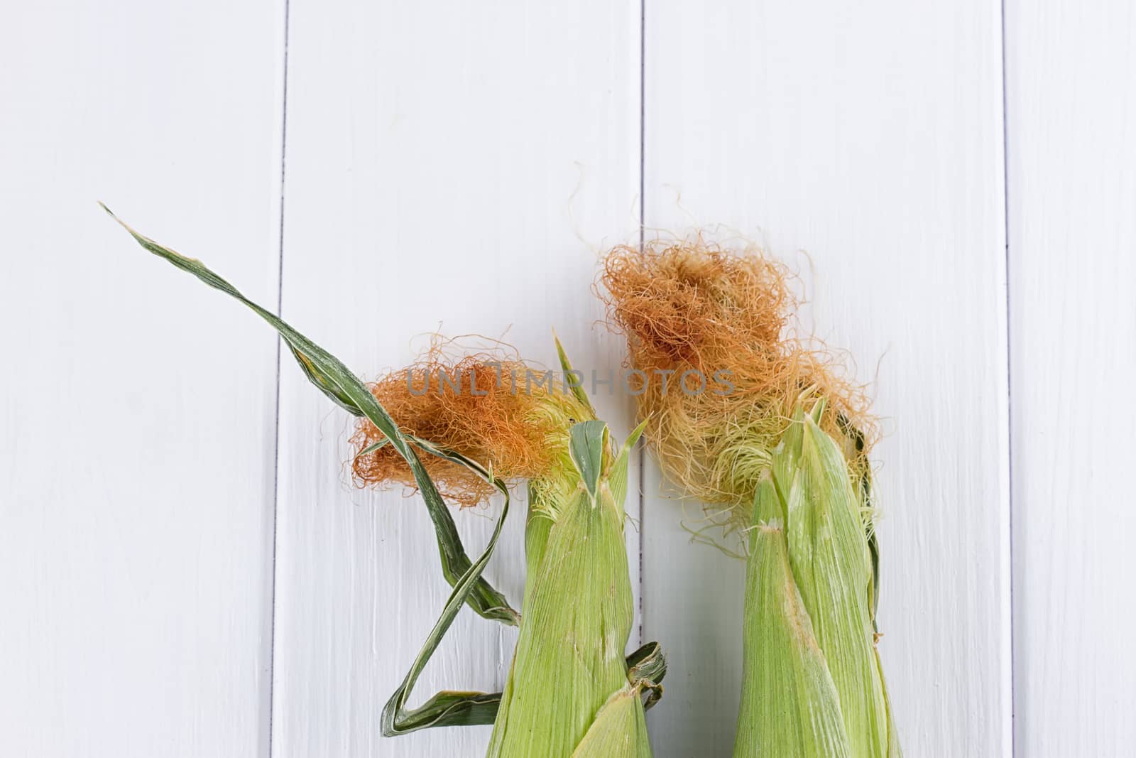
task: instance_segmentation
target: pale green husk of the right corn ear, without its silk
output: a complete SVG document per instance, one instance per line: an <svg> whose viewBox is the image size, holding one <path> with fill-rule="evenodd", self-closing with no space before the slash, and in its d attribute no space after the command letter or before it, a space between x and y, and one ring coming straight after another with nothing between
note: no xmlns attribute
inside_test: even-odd
<svg viewBox="0 0 1136 758"><path fill-rule="evenodd" d="M863 515L820 411L797 408L754 499L738 757L899 756Z"/></svg>

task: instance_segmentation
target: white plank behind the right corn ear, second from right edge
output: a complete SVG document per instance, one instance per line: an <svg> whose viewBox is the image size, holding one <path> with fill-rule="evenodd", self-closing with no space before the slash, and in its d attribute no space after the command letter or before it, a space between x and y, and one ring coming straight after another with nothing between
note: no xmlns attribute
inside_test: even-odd
<svg viewBox="0 0 1136 758"><path fill-rule="evenodd" d="M646 225L765 242L878 382L880 644L911 756L1009 752L1000 30L978 1L646 7ZM671 664L653 741L728 755L743 566L644 510L644 633Z"/></svg>

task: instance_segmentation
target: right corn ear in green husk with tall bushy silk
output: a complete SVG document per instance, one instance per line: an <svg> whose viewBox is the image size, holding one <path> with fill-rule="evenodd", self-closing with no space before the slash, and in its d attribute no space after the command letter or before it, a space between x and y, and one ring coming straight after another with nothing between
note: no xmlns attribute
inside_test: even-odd
<svg viewBox="0 0 1136 758"><path fill-rule="evenodd" d="M725 506L727 533L747 535L735 756L899 756L876 650L874 425L838 360L788 336L785 268L696 239L617 248L602 283L648 377L651 448L688 494ZM728 388L651 381L687 372Z"/></svg>

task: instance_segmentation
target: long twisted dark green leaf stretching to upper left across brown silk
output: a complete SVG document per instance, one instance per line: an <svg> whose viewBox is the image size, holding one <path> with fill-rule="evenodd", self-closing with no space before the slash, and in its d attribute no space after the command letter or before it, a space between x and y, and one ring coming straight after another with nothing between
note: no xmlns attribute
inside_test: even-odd
<svg viewBox="0 0 1136 758"><path fill-rule="evenodd" d="M352 374L337 358L311 342L308 338L296 332L275 314L266 310L256 302L245 298L235 286L210 270L195 258L189 258L169 248L158 244L153 240L135 232L125 222L115 216L109 208L99 203L107 214L118 222L143 249L152 252L159 258L164 258L182 270L193 274L198 280L209 286L220 290L225 294L241 301L253 313L268 322L289 345L295 357L300 368L303 369L308 380L316 385L324 394L333 400L341 408L356 416L366 416L394 445L399 453L407 460L418 489L421 491L426 508L429 511L431 520L437 534L438 553L442 561L442 573L446 582L457 585L460 577L465 576L471 566L469 556L461 544L450 509L438 494L437 488L426 475L421 461L417 453L408 443L406 436L398 428L386 410L375 400L375 397L367 390L367 386ZM517 611L513 610L503 594L483 578L478 578L476 586L467 594L467 602L478 615L492 618L503 624L516 625Z"/></svg>

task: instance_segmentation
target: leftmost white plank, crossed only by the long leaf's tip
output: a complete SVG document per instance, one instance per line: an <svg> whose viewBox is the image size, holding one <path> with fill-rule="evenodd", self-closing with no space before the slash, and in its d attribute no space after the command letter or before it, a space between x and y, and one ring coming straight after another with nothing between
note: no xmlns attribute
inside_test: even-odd
<svg viewBox="0 0 1136 758"><path fill-rule="evenodd" d="M282 3L0 24L0 755L266 755Z"/></svg>

